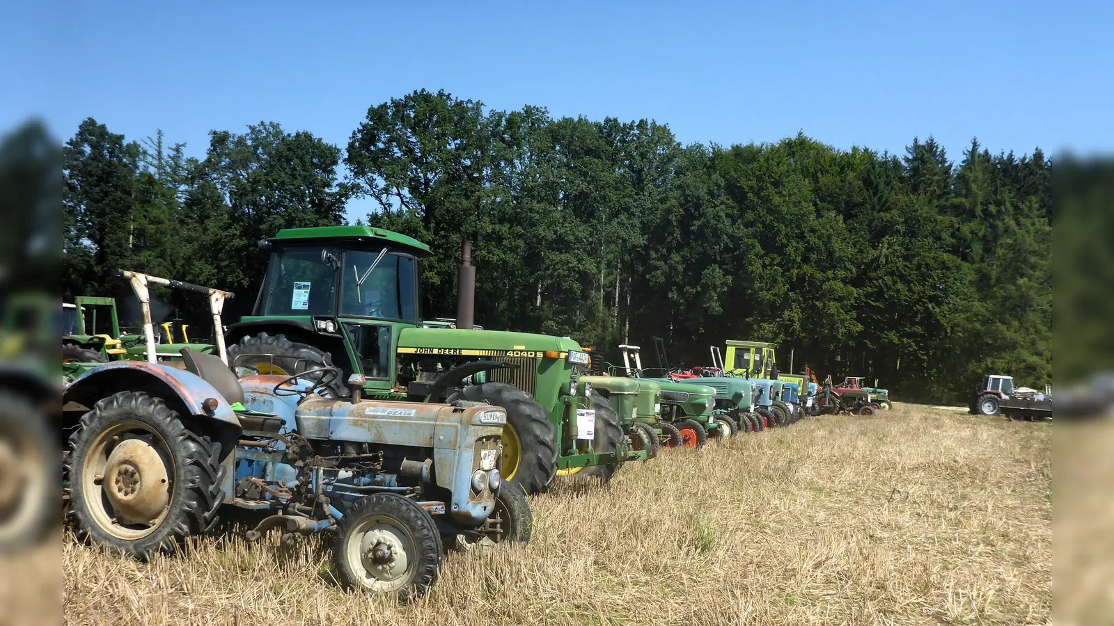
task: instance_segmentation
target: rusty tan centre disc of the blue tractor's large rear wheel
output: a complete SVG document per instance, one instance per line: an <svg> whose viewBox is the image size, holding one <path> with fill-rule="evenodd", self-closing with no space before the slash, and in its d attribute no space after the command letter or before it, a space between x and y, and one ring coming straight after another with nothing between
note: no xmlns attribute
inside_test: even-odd
<svg viewBox="0 0 1114 626"><path fill-rule="evenodd" d="M105 467L102 488L119 518L152 524L170 503L166 463L154 446L127 439L113 449Z"/></svg>

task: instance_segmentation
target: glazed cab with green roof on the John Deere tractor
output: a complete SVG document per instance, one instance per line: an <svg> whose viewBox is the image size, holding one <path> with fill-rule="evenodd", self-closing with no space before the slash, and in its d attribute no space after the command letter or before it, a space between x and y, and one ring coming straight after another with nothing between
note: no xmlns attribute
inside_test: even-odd
<svg viewBox="0 0 1114 626"><path fill-rule="evenodd" d="M364 374L369 388L393 387L399 332L422 324L419 260L429 256L429 246L382 228L330 226L285 228L260 247L270 255L266 276L253 315L229 326L228 342L270 331L272 341L282 334L319 348L313 352L330 354L345 375ZM324 359L306 353L263 360L266 348L233 350L235 364L289 374Z"/></svg>

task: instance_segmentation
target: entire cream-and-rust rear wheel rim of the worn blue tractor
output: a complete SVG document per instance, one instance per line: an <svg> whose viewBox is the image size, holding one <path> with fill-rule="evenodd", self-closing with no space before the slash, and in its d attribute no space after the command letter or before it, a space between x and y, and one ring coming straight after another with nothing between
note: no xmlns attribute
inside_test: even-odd
<svg viewBox="0 0 1114 626"><path fill-rule="evenodd" d="M125 420L101 431L81 466L94 522L124 540L157 530L174 498L173 468L166 443L149 426Z"/></svg>

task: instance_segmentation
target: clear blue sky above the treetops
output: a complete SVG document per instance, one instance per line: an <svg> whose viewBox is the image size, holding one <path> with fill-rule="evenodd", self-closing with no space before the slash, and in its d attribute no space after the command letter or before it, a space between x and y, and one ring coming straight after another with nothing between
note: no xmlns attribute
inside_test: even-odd
<svg viewBox="0 0 1114 626"><path fill-rule="evenodd" d="M194 155L261 120L344 146L369 106L443 88L683 143L1114 149L1106 3L4 4L0 127L38 115L62 139L92 116Z"/></svg>

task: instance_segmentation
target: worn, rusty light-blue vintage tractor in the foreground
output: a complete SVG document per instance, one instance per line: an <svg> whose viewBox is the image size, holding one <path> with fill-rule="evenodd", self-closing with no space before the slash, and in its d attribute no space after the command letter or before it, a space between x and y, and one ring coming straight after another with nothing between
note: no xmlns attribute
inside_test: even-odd
<svg viewBox="0 0 1114 626"><path fill-rule="evenodd" d="M117 361L66 385L62 483L79 537L144 559L236 507L262 518L248 538L334 535L346 588L402 599L436 580L446 542L529 539L526 493L501 476L502 408L363 400L363 374L341 399L336 368L260 374L225 359L183 349L185 369Z"/></svg>

